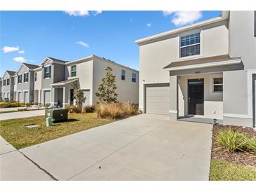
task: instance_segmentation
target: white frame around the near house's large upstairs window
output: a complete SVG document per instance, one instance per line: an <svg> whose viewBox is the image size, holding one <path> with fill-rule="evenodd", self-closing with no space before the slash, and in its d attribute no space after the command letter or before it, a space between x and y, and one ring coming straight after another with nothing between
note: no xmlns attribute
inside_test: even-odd
<svg viewBox="0 0 256 192"><path fill-rule="evenodd" d="M187 57L180 57L180 54L181 54L181 47L180 47L180 43L181 43L181 37L182 36L187 36L187 35L191 35L191 34L200 34L200 54L199 55L191 55L191 56L187 56ZM196 44L193 44L193 45L189 45L189 46L194 46ZM195 30L191 30L189 32L184 32L184 33L181 33L179 36L178 36L178 55L177 55L177 58L178 60L190 60L190 59L193 59L193 58L196 58L196 57L203 57L203 29L195 29Z"/></svg>

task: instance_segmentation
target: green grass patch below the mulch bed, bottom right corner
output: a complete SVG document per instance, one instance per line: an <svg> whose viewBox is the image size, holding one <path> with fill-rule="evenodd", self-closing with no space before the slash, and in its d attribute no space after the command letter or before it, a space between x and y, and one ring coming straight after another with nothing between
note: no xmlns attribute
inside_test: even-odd
<svg viewBox="0 0 256 192"><path fill-rule="evenodd" d="M210 181L256 181L254 167L224 160L212 160L210 164Z"/></svg>

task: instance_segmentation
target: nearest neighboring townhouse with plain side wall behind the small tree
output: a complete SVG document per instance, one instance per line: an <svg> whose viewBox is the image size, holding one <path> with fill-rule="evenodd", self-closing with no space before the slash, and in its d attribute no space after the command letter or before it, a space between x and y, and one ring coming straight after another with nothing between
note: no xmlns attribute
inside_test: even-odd
<svg viewBox="0 0 256 192"><path fill-rule="evenodd" d="M139 97L139 72L135 69L130 69L116 62L106 60L102 57L90 55L79 60L70 62L61 62L53 58L46 57L43 61L42 67L46 67L45 63L53 66L49 69L53 78L50 83L42 83L43 97L42 102L50 102L55 106L67 107L67 105L74 104L74 90L72 85L79 83L80 89L86 96L85 105L93 105L98 102L95 92L97 92L98 85L102 82L105 76L107 67L113 69L112 73L116 76L116 93L119 101L138 103ZM58 68L56 68L56 66ZM64 70L64 71L63 71ZM47 78L45 76L45 78ZM45 81L42 77L42 82ZM44 86L44 87L43 87Z"/></svg>

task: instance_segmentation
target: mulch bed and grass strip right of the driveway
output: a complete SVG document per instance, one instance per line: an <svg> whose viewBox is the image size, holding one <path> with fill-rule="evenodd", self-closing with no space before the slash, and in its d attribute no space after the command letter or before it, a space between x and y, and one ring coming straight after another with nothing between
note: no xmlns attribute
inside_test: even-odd
<svg viewBox="0 0 256 192"><path fill-rule="evenodd" d="M226 140L229 139L230 147L238 146L238 149L233 152L224 149L217 142L217 135L224 130L234 130L238 134L245 135L245 140L242 138L243 135L225 138ZM213 127L212 160L210 163L211 181L256 181L256 153L248 150L246 144L240 144L240 142L246 143L246 138L253 137L256 137L256 131L252 128L222 125Z"/></svg>

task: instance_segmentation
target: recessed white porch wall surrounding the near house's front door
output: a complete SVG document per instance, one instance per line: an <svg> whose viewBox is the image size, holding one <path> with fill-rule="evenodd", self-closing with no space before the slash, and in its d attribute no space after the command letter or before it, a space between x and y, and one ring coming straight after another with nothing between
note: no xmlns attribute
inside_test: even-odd
<svg viewBox="0 0 256 192"><path fill-rule="evenodd" d="M188 114L188 80L193 78L204 79L204 118L223 118L223 94L213 92L213 78L222 77L222 74L202 74L196 76L178 77L178 115Z"/></svg>

